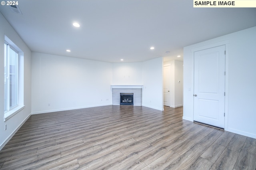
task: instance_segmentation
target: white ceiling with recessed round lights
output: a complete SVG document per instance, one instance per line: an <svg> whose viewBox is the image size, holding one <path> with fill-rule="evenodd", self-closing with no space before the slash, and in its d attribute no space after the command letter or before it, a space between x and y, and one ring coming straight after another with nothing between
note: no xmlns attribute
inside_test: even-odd
<svg viewBox="0 0 256 170"><path fill-rule="evenodd" d="M106 62L182 60L187 45L256 26L256 8L193 8L192 0L18 3L22 15L6 5L0 12L31 51Z"/></svg>

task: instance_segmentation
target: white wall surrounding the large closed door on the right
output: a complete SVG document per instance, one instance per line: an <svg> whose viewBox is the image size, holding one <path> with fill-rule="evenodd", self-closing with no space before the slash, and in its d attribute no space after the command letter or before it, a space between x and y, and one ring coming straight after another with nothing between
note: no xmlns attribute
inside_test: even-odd
<svg viewBox="0 0 256 170"><path fill-rule="evenodd" d="M226 45L225 130L256 138L256 27L184 47L184 114L193 121L194 54Z"/></svg>

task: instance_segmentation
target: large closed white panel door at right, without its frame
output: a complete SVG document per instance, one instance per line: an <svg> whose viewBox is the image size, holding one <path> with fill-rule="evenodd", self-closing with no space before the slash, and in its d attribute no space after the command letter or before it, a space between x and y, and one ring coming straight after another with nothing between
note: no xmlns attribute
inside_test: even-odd
<svg viewBox="0 0 256 170"><path fill-rule="evenodd" d="M224 128L225 45L194 52L194 121Z"/></svg>

